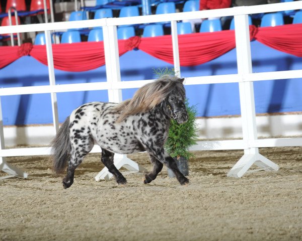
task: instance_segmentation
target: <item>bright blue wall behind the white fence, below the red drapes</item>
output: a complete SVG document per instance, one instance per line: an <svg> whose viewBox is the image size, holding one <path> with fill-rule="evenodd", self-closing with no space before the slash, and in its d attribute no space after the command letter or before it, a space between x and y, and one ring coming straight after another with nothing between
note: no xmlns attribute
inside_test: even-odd
<svg viewBox="0 0 302 241"><path fill-rule="evenodd" d="M251 42L253 72L302 69L302 59ZM154 69L173 68L173 65L142 51L130 51L120 57L121 80L154 79ZM236 74L236 50L208 63L181 67L182 77ZM55 70L57 84L106 81L102 66L87 72ZM0 70L0 87L47 85L47 66L32 57L24 56ZM122 90L123 100L131 98L136 89ZM254 82L257 113L302 111L302 80L273 80ZM240 114L238 83L186 86L190 104L196 104L198 116ZM63 122L79 105L90 101L108 101L107 90L58 93L59 121ZM4 125L52 123L50 94L3 96Z"/></svg>

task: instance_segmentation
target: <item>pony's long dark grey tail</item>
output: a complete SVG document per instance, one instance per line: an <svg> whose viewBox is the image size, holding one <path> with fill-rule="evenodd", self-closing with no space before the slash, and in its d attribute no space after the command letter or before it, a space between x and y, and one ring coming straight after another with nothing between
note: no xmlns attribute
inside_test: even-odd
<svg viewBox="0 0 302 241"><path fill-rule="evenodd" d="M51 155L53 157L53 171L57 174L63 173L67 161L70 159L71 144L69 139L69 116L60 127L51 142Z"/></svg>

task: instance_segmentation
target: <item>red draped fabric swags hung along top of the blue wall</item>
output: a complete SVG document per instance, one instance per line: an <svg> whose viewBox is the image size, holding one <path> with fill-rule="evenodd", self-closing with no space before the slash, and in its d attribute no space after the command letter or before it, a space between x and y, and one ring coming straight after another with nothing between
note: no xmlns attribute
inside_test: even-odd
<svg viewBox="0 0 302 241"><path fill-rule="evenodd" d="M276 50L302 57L302 24L256 28L250 26L250 39L255 39ZM194 66L215 59L234 49L235 31L195 33L178 36L181 66ZM134 48L173 64L171 35L118 40L119 55ZM87 71L105 64L103 42L53 44L54 68L65 71ZM0 47L0 68L4 68L22 56L30 55L47 65L46 47L30 43Z"/></svg>

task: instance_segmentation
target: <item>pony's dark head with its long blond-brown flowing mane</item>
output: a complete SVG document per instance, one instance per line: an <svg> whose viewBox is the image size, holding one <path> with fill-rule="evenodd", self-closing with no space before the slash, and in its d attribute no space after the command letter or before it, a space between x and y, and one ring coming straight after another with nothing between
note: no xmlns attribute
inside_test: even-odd
<svg viewBox="0 0 302 241"><path fill-rule="evenodd" d="M164 113L179 124L185 123L188 120L188 113L183 81L184 79L175 76L163 75L156 81L145 84L135 92L132 99L116 105L115 109L121 112L118 121L131 114L146 112L161 106Z"/></svg>

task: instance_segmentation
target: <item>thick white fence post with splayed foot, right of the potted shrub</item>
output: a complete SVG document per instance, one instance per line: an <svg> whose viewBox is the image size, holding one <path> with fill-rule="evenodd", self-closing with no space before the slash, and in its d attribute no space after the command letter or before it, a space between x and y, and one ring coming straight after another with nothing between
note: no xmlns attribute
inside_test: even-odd
<svg viewBox="0 0 302 241"><path fill-rule="evenodd" d="M254 86L252 81L244 79L245 75L252 73L249 21L248 15L237 15L234 19L238 74L242 76L239 93L243 140L249 142L257 140ZM259 154L258 148L247 148L244 149L243 157L229 171L228 176L242 177L253 164L260 167L258 170L278 170L275 163Z"/></svg>

